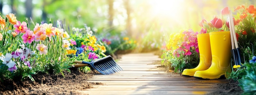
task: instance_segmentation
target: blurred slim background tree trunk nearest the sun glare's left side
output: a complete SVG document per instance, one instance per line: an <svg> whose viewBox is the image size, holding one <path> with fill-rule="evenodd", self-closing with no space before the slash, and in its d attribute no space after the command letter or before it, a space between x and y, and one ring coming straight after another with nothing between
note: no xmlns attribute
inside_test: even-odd
<svg viewBox="0 0 256 95"><path fill-rule="evenodd" d="M127 14L127 20L126 20L126 31L128 33L128 36L132 36L132 31L131 31L131 18L130 18L130 13L131 13L131 9L130 9L130 2L129 0L124 0L124 4L126 7L126 14Z"/></svg>

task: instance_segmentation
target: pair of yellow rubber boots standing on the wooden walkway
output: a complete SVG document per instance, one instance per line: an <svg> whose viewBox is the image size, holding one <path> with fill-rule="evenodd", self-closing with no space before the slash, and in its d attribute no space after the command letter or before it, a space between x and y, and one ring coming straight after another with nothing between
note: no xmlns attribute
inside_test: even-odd
<svg viewBox="0 0 256 95"><path fill-rule="evenodd" d="M197 67L184 69L182 75L203 79L218 79L231 72L231 38L229 31L198 34L200 62Z"/></svg>

